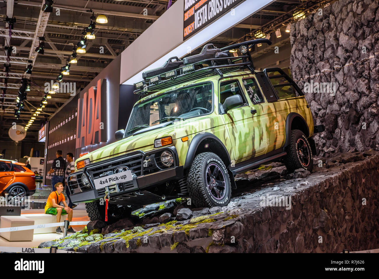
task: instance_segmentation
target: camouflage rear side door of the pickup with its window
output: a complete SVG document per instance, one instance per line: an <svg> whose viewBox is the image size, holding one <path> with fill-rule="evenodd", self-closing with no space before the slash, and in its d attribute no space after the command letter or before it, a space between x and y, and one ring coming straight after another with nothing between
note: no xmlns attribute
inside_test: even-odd
<svg viewBox="0 0 379 279"><path fill-rule="evenodd" d="M242 78L242 83L251 101L253 118L266 135L266 153L280 148L284 142L284 123L282 114L276 113L275 103L269 103L254 76Z"/></svg>

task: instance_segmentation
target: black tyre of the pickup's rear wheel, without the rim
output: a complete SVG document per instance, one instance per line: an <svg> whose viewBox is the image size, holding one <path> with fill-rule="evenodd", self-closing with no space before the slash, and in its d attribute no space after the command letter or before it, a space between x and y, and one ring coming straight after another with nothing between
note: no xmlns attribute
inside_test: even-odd
<svg viewBox="0 0 379 279"><path fill-rule="evenodd" d="M309 152L309 164L304 166L301 163L300 155L298 154L297 143L298 140L304 141L305 145L308 148ZM307 137L301 130L292 130L290 136L290 145L287 146L287 155L284 157L284 165L286 166L289 172L293 172L295 169L306 169L307 171L312 172L313 169L313 154L312 148L310 147Z"/></svg>

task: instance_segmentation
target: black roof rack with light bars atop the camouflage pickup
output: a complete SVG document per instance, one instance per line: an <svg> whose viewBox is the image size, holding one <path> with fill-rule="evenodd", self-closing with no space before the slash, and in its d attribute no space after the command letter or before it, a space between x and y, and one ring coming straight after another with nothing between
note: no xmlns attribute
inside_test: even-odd
<svg viewBox="0 0 379 279"><path fill-rule="evenodd" d="M162 67L143 72L144 80L135 83L137 89L134 94L148 94L186 81L211 75L222 76L245 68L254 73L254 64L249 49L260 43L271 45L271 41L268 39L241 42L222 49L215 48L213 44L207 44L197 55L185 57L183 60L177 57L169 58ZM231 56L229 50L238 48L243 55Z"/></svg>

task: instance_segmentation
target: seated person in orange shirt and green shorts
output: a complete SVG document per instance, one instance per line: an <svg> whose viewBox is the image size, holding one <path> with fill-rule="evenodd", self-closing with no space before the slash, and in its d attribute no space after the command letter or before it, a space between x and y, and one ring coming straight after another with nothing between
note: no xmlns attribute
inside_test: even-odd
<svg viewBox="0 0 379 279"><path fill-rule="evenodd" d="M61 215L68 214L68 220L72 221L72 208L69 208L66 204L66 201L64 200L64 194L63 192L63 183L58 182L54 185L56 191L53 191L50 193L49 197L47 198L47 202L45 205L45 214L52 214L56 215L56 223L61 222ZM63 202L64 206L60 205L60 203ZM61 233L61 227L56 228L57 234ZM75 230L72 229L71 226L69 226L69 229L67 232L74 233Z"/></svg>

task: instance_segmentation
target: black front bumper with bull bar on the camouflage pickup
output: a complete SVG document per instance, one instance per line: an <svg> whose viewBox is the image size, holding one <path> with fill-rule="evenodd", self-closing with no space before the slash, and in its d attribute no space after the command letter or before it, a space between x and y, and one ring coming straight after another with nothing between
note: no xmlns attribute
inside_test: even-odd
<svg viewBox="0 0 379 279"><path fill-rule="evenodd" d="M174 154L174 164L170 168L162 168L157 160L158 156L164 150L170 150ZM117 192L110 195L110 203L134 205L143 202L157 202L161 200L160 196L147 191L153 185L164 183L169 180L183 178L183 166L178 166L179 159L174 146L162 147L150 152L132 152L119 157L114 157L98 163L89 164L83 170L74 172L67 177L67 184L70 190L70 199L72 202L95 201L105 196L105 188L96 189L94 179L99 177L99 173L110 175L110 171L119 166L127 166L136 174L130 182L116 184ZM89 178L90 188L84 187L81 183L81 174L83 172ZM102 175L100 174L100 175Z"/></svg>

